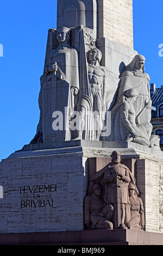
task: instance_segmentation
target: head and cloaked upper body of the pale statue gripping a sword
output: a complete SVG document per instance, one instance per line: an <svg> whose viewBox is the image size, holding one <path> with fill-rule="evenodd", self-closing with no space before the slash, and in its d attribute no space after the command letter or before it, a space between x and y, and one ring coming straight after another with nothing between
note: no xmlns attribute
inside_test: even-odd
<svg viewBox="0 0 163 256"><path fill-rule="evenodd" d="M71 95L77 95L79 90L78 53L70 46L70 32L66 27L57 29L59 46L51 50L45 72L47 75L52 73L61 75L62 80L71 84ZM74 107L74 102L71 102L71 105Z"/></svg>

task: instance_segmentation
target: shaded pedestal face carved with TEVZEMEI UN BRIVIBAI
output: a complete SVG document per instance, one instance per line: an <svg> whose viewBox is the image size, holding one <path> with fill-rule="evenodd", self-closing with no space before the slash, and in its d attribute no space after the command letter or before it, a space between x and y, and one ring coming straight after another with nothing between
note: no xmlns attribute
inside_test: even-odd
<svg viewBox="0 0 163 256"><path fill-rule="evenodd" d="M86 158L82 150L12 154L1 163L1 233L83 230Z"/></svg>

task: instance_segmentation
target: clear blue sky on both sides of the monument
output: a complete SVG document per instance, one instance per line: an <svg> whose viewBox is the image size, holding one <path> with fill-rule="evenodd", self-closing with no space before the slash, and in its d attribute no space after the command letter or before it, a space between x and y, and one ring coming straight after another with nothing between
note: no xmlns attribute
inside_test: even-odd
<svg viewBox="0 0 163 256"><path fill-rule="evenodd" d="M66 1L66 0L65 0ZM39 121L40 76L47 32L56 28L57 0L0 0L0 161L34 137ZM133 0L134 50L146 57L146 72L163 84L162 0Z"/></svg>

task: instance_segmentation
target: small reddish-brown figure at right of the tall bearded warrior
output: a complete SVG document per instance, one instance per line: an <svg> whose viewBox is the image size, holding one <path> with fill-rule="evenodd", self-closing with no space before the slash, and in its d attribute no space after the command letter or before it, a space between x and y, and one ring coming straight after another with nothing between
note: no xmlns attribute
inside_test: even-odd
<svg viewBox="0 0 163 256"><path fill-rule="evenodd" d="M128 229L144 229L145 216L142 199L135 194L135 186L129 185L129 202L130 216L126 223Z"/></svg>

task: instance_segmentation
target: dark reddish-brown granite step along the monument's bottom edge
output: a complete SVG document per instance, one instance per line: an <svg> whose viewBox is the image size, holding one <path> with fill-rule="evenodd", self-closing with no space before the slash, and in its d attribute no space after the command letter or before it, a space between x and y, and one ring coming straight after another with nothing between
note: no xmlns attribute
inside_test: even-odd
<svg viewBox="0 0 163 256"><path fill-rule="evenodd" d="M163 245L162 241L163 234L129 229L0 234L0 245Z"/></svg>

